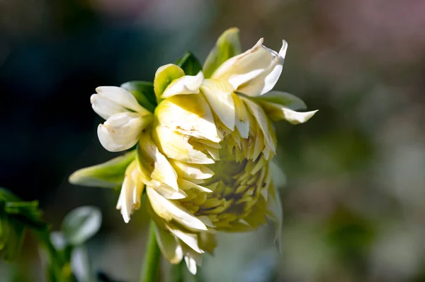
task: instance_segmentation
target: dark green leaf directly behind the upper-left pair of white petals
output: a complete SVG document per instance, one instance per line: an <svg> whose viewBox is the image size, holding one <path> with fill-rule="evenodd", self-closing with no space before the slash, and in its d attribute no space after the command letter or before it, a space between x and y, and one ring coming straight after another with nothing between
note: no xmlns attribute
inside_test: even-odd
<svg viewBox="0 0 425 282"><path fill-rule="evenodd" d="M154 83L147 81L128 81L121 84L121 87L130 91L142 107L145 107L150 112L154 112L157 106Z"/></svg>

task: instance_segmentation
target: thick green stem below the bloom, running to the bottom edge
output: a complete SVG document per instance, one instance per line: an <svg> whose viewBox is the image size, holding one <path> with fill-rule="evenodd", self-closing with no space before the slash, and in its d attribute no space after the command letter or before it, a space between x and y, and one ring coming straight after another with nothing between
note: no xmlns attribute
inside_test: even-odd
<svg viewBox="0 0 425 282"><path fill-rule="evenodd" d="M159 265L161 264L161 251L155 237L155 223L151 221L149 225L149 237L147 239L147 249L145 263L140 276L140 282L155 282L158 278Z"/></svg>

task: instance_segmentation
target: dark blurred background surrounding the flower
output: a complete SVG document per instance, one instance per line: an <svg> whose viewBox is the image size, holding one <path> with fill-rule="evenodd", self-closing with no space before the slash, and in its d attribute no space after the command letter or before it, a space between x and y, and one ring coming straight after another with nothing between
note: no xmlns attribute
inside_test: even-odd
<svg viewBox="0 0 425 282"><path fill-rule="evenodd" d="M116 155L98 142L89 97L152 81L187 50L203 61L236 26L243 49L288 41L275 89L319 112L276 124L283 254L271 228L223 234L204 280L425 281L424 15L421 0L2 0L0 186L38 199L53 230L77 206L100 207L94 268L138 281L145 209L125 224L112 189L67 183ZM0 276L43 281L31 237Z"/></svg>

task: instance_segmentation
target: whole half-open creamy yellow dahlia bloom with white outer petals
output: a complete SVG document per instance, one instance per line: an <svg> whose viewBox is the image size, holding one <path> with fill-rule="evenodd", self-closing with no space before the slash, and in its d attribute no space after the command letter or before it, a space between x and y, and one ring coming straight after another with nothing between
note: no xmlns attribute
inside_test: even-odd
<svg viewBox="0 0 425 282"><path fill-rule="evenodd" d="M271 161L277 146L271 121L297 124L316 112L297 112L305 109L302 100L272 90L287 43L275 52L261 39L240 54L237 33L219 38L197 74L161 66L154 110L143 107L148 99L140 102L134 89L96 88L91 104L106 119L98 126L102 146L137 147L70 177L76 184L120 185L117 208L126 223L145 192L162 254L173 264L185 259L193 274L215 249L218 231L255 230L270 218L280 238L281 172Z"/></svg>

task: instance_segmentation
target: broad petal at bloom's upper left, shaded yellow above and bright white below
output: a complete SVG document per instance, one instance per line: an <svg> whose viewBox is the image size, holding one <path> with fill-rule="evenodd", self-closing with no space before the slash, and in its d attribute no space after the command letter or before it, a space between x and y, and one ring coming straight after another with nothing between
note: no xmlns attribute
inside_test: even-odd
<svg viewBox="0 0 425 282"><path fill-rule="evenodd" d="M199 139L220 142L214 118L203 95L178 95L163 100L156 110L159 124Z"/></svg>

